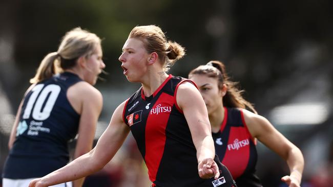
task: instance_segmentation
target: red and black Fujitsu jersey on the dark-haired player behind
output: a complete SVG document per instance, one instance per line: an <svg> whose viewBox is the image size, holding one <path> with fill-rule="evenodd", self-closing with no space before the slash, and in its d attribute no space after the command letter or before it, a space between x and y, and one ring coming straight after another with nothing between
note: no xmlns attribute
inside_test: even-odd
<svg viewBox="0 0 333 187"><path fill-rule="evenodd" d="M262 186L255 175L257 163L256 141L249 133L239 108L224 107L221 129L212 133L215 153L228 168L238 186Z"/></svg>

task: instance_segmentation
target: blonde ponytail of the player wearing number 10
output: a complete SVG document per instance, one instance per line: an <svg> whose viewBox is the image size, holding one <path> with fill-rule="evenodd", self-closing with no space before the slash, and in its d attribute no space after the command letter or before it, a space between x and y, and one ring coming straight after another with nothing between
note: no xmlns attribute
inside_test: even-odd
<svg viewBox="0 0 333 187"><path fill-rule="evenodd" d="M44 59L40 62L36 75L30 79L30 83L38 83L45 79L51 78L54 74L59 73L60 68L57 67L54 62L58 60L57 58L59 58L57 52L46 55L46 57L44 57Z"/></svg>

